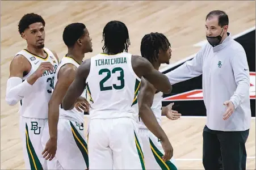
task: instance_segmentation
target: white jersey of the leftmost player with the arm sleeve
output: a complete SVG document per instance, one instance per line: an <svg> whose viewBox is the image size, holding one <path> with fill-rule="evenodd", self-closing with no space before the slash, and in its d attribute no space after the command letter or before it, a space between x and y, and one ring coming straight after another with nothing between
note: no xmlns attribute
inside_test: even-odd
<svg viewBox="0 0 256 170"><path fill-rule="evenodd" d="M48 103L52 96L52 87L54 75L58 67L58 60L51 50L44 48L44 52L47 54L45 59L28 52L26 49L21 50L15 55L26 57L31 64L30 73L23 76L23 81L37 70L41 62L51 62L54 67L53 72L45 70L44 74L32 85L31 93L20 100L19 113L23 117L48 118Z"/></svg>

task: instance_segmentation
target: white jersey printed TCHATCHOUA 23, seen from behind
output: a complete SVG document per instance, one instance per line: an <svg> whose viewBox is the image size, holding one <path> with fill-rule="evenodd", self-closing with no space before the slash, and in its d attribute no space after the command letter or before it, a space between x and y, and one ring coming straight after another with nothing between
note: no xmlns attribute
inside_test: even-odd
<svg viewBox="0 0 256 170"><path fill-rule="evenodd" d="M132 54L98 54L91 58L86 80L90 118L130 117L139 121L140 78L132 69Z"/></svg>

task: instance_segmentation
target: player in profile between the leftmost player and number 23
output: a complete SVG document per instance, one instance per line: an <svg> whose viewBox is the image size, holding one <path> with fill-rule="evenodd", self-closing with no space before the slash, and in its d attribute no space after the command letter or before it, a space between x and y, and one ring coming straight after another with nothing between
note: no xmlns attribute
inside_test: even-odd
<svg viewBox="0 0 256 170"><path fill-rule="evenodd" d="M81 109L89 109L86 105L88 102L79 97L79 107L65 111L61 101L85 53L93 52L91 37L84 24L72 23L65 27L63 40L68 53L61 59L55 74L54 90L49 101L49 127L45 126L42 137L43 146L46 145L43 154L45 159L50 160L48 169L87 169L88 152Z"/></svg>

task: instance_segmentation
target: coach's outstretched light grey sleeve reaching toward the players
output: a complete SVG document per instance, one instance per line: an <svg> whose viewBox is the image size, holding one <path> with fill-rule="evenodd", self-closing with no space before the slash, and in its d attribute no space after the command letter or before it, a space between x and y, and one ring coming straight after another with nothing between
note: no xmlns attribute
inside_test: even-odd
<svg viewBox="0 0 256 170"><path fill-rule="evenodd" d="M165 74L171 84L183 82L203 73L202 51L203 49L199 50L193 59L183 63L183 65L179 66L177 69Z"/></svg>

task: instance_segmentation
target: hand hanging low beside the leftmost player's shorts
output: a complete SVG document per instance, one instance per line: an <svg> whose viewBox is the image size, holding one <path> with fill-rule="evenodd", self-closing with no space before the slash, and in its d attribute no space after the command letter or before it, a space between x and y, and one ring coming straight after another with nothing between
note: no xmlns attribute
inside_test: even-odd
<svg viewBox="0 0 256 170"><path fill-rule="evenodd" d="M57 139L50 138L46 143L46 146L44 148L44 151L42 152L42 155L44 155L44 158L46 160L49 159L49 161L51 161L56 154L56 150L57 150Z"/></svg>

